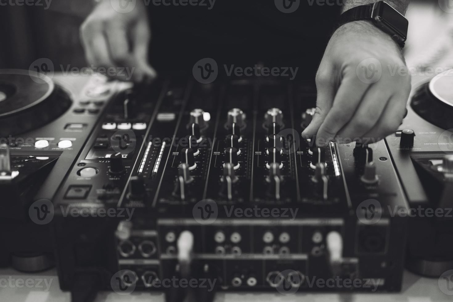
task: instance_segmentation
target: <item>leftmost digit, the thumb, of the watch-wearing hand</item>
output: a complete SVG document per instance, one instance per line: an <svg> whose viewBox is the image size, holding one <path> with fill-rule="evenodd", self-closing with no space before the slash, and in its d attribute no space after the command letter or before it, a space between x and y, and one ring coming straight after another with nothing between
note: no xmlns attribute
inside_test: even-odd
<svg viewBox="0 0 453 302"><path fill-rule="evenodd" d="M328 77L320 77L318 71L316 76L316 87L318 90L316 96L316 110L310 125L302 132L302 137L304 139L311 139L316 135L319 127L323 124L326 115L332 108L334 88L333 81L330 77L330 75L328 75Z"/></svg>

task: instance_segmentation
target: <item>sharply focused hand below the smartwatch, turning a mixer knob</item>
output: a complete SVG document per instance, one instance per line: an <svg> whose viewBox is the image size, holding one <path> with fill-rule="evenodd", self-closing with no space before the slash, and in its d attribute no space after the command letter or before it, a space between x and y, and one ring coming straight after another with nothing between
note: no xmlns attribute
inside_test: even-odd
<svg viewBox="0 0 453 302"><path fill-rule="evenodd" d="M400 125L410 76L390 35L369 21L343 24L330 39L316 74L313 121L302 133L316 144L376 142Z"/></svg>

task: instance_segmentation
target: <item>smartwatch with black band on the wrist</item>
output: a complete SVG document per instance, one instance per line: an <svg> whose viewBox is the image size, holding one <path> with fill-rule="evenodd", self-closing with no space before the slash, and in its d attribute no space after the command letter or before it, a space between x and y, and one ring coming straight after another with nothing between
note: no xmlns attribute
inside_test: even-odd
<svg viewBox="0 0 453 302"><path fill-rule="evenodd" d="M340 15L338 27L342 24L358 20L372 21L377 28L390 34L395 42L400 45L400 48L404 47L409 22L386 1L360 5L345 11Z"/></svg>

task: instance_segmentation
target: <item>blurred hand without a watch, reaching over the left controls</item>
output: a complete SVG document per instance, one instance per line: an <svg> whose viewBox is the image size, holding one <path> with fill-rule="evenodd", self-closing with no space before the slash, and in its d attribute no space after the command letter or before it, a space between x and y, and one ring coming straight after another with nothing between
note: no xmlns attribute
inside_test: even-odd
<svg viewBox="0 0 453 302"><path fill-rule="evenodd" d="M156 76L148 64L151 33L143 3L136 1L130 12L115 10L111 0L102 0L96 6L80 28L90 66L114 67L117 72L108 75L123 81L148 81ZM122 72L123 67L129 67L131 74Z"/></svg>

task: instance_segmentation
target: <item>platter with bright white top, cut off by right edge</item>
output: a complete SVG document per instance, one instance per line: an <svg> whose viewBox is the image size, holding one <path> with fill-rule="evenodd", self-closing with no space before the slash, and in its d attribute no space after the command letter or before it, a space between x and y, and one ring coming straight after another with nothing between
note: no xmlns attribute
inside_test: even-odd
<svg viewBox="0 0 453 302"><path fill-rule="evenodd" d="M424 120L443 129L453 128L453 69L420 85L410 103Z"/></svg>

